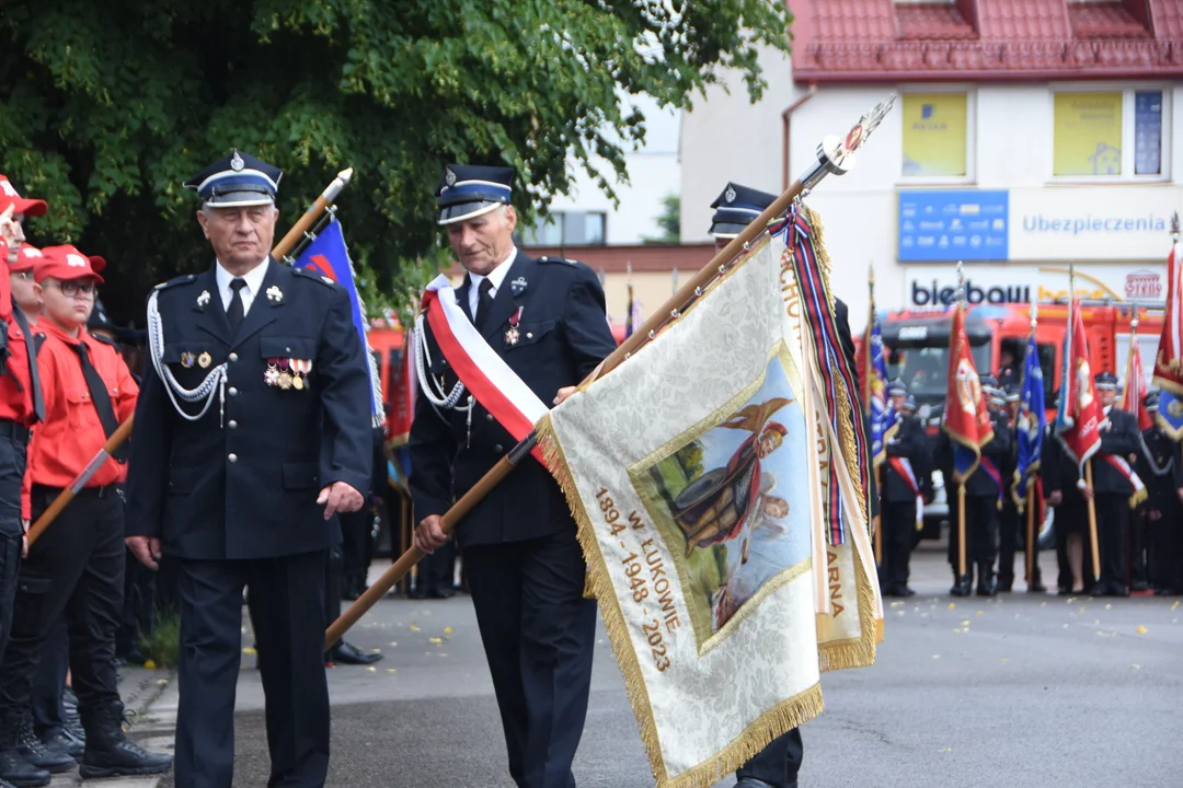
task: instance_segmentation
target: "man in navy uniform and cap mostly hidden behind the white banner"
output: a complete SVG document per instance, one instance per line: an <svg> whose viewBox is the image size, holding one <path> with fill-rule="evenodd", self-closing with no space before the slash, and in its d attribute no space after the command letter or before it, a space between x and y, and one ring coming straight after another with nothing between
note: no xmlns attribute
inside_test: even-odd
<svg viewBox="0 0 1183 788"><path fill-rule="evenodd" d="M711 208L711 235L715 236L715 248L722 252L731 239L736 237L754 222L764 210L776 202L776 195L759 191L738 183L728 183ZM847 319L846 304L834 299L834 321L838 324L839 341L851 369L855 369L854 340ZM878 495L870 491L872 516L878 510ZM750 761L736 770L736 788L796 788L797 771L804 749L801 742L801 730L794 728L780 736L756 754Z"/></svg>

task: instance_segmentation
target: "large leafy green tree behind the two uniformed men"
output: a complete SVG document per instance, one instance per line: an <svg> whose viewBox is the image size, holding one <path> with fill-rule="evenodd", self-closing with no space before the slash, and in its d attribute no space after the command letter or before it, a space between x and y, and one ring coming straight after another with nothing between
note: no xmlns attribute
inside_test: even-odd
<svg viewBox="0 0 1183 788"><path fill-rule="evenodd" d="M285 170L282 227L354 167L338 204L379 305L444 259L442 162L515 167L528 219L570 161L610 195L645 138L618 89L689 106L732 67L755 100L788 22L778 0L8 0L0 171L50 201L34 242L111 261L104 298L131 317L208 265L180 184L231 146Z"/></svg>

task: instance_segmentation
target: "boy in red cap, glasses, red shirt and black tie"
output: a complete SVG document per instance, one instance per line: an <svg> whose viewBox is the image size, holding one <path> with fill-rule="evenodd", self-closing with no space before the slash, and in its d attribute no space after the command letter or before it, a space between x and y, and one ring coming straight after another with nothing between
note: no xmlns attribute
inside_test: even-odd
<svg viewBox="0 0 1183 788"><path fill-rule="evenodd" d="M86 332L101 258L72 246L43 249L35 269L45 308L38 353L45 418L30 444L24 515L39 515L135 410L138 386L118 352ZM20 568L12 637L0 672L5 745L46 770L69 770L73 758L53 753L32 732L30 692L50 625L65 616L70 669L86 744L83 777L154 774L172 758L144 751L123 735L116 686L115 630L123 604L123 501L119 452L104 462L71 504L32 545ZM15 731L15 732L14 732ZM34 760L38 758L38 760ZM67 763L69 761L69 763Z"/></svg>

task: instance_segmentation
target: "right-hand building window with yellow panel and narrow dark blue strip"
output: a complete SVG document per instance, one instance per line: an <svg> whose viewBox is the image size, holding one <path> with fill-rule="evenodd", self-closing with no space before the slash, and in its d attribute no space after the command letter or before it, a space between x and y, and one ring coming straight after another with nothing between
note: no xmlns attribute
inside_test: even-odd
<svg viewBox="0 0 1183 788"><path fill-rule="evenodd" d="M1052 174L1114 180L1162 177L1165 99L1159 89L1056 92Z"/></svg>

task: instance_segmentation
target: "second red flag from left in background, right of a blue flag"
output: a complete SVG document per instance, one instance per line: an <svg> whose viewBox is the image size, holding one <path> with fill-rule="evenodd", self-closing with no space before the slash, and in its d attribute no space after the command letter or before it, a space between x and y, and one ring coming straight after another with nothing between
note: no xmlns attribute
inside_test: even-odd
<svg viewBox="0 0 1183 788"><path fill-rule="evenodd" d="M1088 365L1088 339L1085 337L1085 323L1080 318L1080 301L1072 299L1068 310L1072 328L1065 338L1055 434L1082 474L1085 461L1101 447L1100 426L1105 413L1101 400L1097 398L1097 383Z"/></svg>

